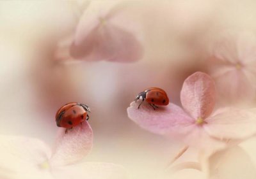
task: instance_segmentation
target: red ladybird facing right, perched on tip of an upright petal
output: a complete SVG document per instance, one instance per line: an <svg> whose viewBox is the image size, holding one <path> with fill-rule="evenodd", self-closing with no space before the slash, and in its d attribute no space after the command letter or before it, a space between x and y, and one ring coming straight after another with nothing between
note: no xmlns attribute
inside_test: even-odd
<svg viewBox="0 0 256 179"><path fill-rule="evenodd" d="M58 127L65 127L72 129L76 125L81 124L84 120L89 119L88 112L90 108L85 104L79 104L76 102L67 103L56 113L56 124ZM65 132L67 132L67 129Z"/></svg>

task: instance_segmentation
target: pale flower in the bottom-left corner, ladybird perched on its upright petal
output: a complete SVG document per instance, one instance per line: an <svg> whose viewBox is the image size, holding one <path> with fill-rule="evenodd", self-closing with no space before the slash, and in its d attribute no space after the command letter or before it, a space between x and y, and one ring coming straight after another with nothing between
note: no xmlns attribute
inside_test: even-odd
<svg viewBox="0 0 256 179"><path fill-rule="evenodd" d="M115 164L81 162L92 149L93 132L88 122L65 134L60 129L53 150L44 142L21 136L0 136L0 178L125 178Z"/></svg>

